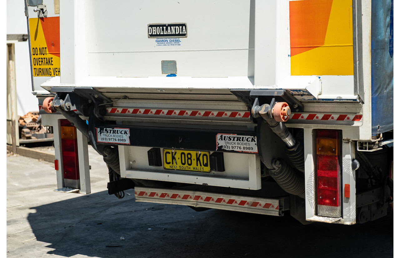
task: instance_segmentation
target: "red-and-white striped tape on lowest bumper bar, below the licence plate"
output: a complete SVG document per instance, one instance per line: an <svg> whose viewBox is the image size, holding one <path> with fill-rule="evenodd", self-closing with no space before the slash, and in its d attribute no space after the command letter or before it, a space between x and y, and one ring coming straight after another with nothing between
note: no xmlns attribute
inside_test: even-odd
<svg viewBox="0 0 400 258"><path fill-rule="evenodd" d="M230 206L242 206L247 208L279 210L278 204L272 204L268 202L253 202L248 200L217 198L212 196L196 195L196 194L171 194L164 192L135 191L135 197L154 198L154 199L162 198L162 199L179 200L179 201L196 201L196 202L204 202L204 203L207 202L207 203L230 205Z"/></svg>

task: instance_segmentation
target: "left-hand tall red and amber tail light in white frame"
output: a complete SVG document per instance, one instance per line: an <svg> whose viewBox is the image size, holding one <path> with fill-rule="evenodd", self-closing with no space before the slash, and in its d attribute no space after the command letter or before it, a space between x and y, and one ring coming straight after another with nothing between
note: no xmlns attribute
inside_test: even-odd
<svg viewBox="0 0 400 258"><path fill-rule="evenodd" d="M78 142L76 128L66 119L60 120L62 168L65 187L79 188Z"/></svg>

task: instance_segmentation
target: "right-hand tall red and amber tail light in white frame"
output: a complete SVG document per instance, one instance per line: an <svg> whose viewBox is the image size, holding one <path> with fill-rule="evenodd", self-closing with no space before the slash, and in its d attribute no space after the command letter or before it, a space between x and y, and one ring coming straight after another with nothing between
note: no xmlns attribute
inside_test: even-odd
<svg viewBox="0 0 400 258"><path fill-rule="evenodd" d="M340 144L338 130L317 130L318 215L340 217Z"/></svg>

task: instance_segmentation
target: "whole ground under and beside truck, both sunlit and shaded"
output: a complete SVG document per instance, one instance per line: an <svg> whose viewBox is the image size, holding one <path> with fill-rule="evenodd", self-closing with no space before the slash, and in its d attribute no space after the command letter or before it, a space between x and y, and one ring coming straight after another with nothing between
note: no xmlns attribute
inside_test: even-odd
<svg viewBox="0 0 400 258"><path fill-rule="evenodd" d="M304 226L288 215L135 202L134 190L118 199L91 147L89 159L92 194L80 195L53 192L54 164L7 156L8 258L393 257L392 215Z"/></svg>

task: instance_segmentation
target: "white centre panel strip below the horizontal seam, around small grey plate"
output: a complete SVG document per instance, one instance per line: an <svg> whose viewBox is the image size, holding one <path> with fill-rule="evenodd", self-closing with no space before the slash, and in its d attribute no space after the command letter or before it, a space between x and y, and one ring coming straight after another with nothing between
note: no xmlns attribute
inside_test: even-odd
<svg viewBox="0 0 400 258"><path fill-rule="evenodd" d="M242 49L89 53L89 75L165 76L161 73L161 60L175 60L178 76L247 76L248 52Z"/></svg>

